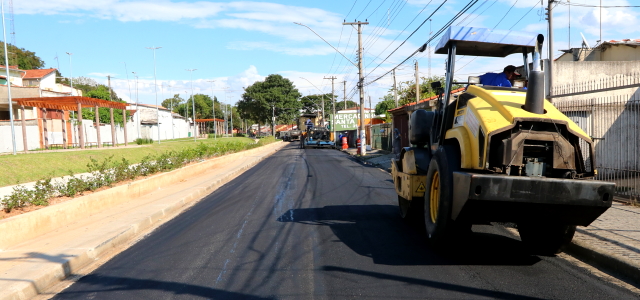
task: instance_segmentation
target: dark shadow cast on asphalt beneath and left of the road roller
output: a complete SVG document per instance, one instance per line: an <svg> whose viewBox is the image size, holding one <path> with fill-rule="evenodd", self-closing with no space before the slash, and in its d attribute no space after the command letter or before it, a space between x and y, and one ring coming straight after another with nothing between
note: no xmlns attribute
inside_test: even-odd
<svg viewBox="0 0 640 300"><path fill-rule="evenodd" d="M444 249L430 247L422 232L404 222L393 205L336 205L291 209L280 222L328 226L354 252L384 265L533 265L520 241L492 228L461 237ZM487 226L483 226L487 227ZM475 230L475 227L474 227Z"/></svg>

